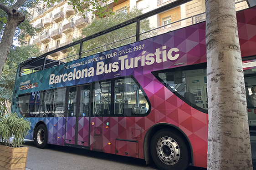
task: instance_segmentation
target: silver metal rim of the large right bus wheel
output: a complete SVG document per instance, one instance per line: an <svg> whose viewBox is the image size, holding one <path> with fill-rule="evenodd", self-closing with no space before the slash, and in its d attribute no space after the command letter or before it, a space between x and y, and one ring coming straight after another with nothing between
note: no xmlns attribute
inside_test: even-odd
<svg viewBox="0 0 256 170"><path fill-rule="evenodd" d="M174 165L180 157L180 149L178 143L168 137L162 137L156 146L156 151L159 159L166 165Z"/></svg>

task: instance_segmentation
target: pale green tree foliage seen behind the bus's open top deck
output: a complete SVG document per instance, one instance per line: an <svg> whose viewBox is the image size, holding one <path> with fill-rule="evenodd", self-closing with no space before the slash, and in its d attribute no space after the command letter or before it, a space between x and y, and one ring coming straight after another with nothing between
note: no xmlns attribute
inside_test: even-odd
<svg viewBox="0 0 256 170"><path fill-rule="evenodd" d="M128 13L120 12L115 15L108 15L104 18L98 18L92 20L92 22L82 30L82 35L89 36L93 35L102 30L106 30L110 27L118 25L126 20L132 19L138 15L142 14L142 10L133 8ZM146 30L151 30L149 20L142 20L140 23L140 31L144 32ZM92 40L85 41L83 43L83 54L82 57L96 54L105 50L110 50L119 46L127 45L135 42L136 38L136 23L127 25L123 28L119 28L107 34L101 35L99 37L93 38ZM155 31L143 34L140 39L146 39L157 35ZM80 39L77 38L76 40ZM126 39L127 38L127 39ZM67 56L77 54L79 52L79 46L72 47L72 51L67 53ZM77 56L74 56L77 57ZM72 60L69 58L68 60Z"/></svg>

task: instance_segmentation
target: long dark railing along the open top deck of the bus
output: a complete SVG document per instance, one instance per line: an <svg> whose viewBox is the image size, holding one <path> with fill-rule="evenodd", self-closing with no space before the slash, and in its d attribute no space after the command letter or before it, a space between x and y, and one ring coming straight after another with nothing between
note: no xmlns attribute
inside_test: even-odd
<svg viewBox="0 0 256 170"><path fill-rule="evenodd" d="M165 0L163 0L163 2L164 1ZM142 15L139 15L139 16L133 18L133 19L127 20L127 21L125 21L123 23L115 25L115 26L113 26L111 28L108 28L106 30L102 30L102 31L100 31L100 32L98 32L96 34L89 35L89 36L87 36L85 38L82 38L80 40L74 41L74 42L72 42L70 44L60 46L59 48L57 48L55 50L48 51L45 54L40 55L40 56L34 58L33 60L30 59L30 60L24 61L24 62L20 63L20 67L26 68L26 65L29 65L29 67L27 67L27 68L30 68L31 70L35 70L37 68L40 68L40 70L44 70L44 69L47 69L49 67L52 67L53 65L55 66L55 63L63 64L63 63L66 63L67 61L77 60L77 59L80 59L82 57L86 57L87 55L85 55L85 54L87 52L89 52L89 51L93 51L93 50L97 50L97 49L101 49L102 51L105 51L107 46L113 45L113 44L118 43L118 42L122 42L124 40L133 39L134 42L137 42L139 40L143 40L142 35L147 34L147 33L151 32L151 31L159 31L159 30L163 30L163 29L167 29L167 31L169 31L168 29L170 29L170 27L175 27L174 29L172 29L172 31L175 30L175 29L182 28L181 26L177 27L177 25L180 25L180 23L182 21L185 21L185 20L191 20L190 21L190 25L193 25L193 24L196 24L198 22L204 21L205 20L205 12L202 12L200 14L192 15L192 16L189 16L187 18L183 18L181 20L176 20L176 21L171 22L169 24L160 25L160 26L158 26L156 28L153 28L151 30L145 30L145 31L141 32L141 30L140 30L140 22L142 20L147 19L150 16L162 13L162 12L164 12L166 10L175 8L175 7L177 7L179 5L182 5L182 4L184 4L186 2L189 2L189 1L191 1L191 0L173 0L172 3L169 3L167 5L161 6L161 7L157 8L157 9L155 9L155 10L152 10L152 11L149 11L149 12L144 13ZM250 7L250 4L249 4L248 0L236 1L236 3L241 3L241 2L246 2L248 7ZM131 24L135 24L136 25L136 34L131 35L129 37L125 37L125 38L120 39L120 40L116 40L114 42L110 42L108 44L99 45L99 46L97 46L97 47L95 47L93 49L88 49L88 50L82 51L83 43L84 42L92 40L92 39L97 38L97 37L100 37L102 35L106 35L106 34L108 34L110 32L113 32L115 30L121 29L121 28L123 28L125 26L128 26L128 25L131 25ZM185 26L188 26L188 25L186 24ZM62 58L60 60L52 60L51 62L47 62L46 63L47 56L49 56L49 55L51 55L53 53L65 50L65 49L70 48L70 47L75 46L75 45L79 45L79 52L77 54L72 54L70 56L67 56L66 58ZM117 48L117 47L118 46L115 46L113 48ZM98 51L98 52L101 52L101 51ZM31 68L31 65L30 65L31 63L34 63L36 60L40 60L42 58L44 59L44 63L41 66L36 66L34 68ZM26 69L26 71L27 71L27 69ZM26 71L24 71L24 72L26 72ZM22 71L20 70L20 75L21 75L21 73L22 73Z"/></svg>

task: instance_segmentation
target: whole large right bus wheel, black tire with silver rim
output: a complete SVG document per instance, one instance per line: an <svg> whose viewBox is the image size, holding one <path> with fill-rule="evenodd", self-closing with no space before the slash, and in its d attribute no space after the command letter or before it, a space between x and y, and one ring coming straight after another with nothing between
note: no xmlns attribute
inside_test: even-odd
<svg viewBox="0 0 256 170"><path fill-rule="evenodd" d="M161 170L185 170L189 165L189 150L178 133L170 129L156 132L151 140L151 156Z"/></svg>

